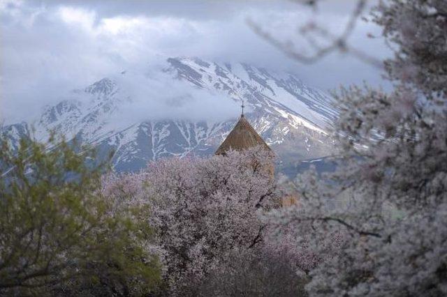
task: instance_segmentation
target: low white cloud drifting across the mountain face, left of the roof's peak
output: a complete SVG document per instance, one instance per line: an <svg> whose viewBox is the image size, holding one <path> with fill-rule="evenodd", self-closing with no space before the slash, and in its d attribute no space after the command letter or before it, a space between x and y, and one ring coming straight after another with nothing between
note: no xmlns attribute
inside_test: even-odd
<svg viewBox="0 0 447 297"><path fill-rule="evenodd" d="M129 98L113 119L124 125L164 119L219 122L240 112L240 102L223 93L192 87L159 70L146 75L126 71L112 79L121 90L119 98Z"/></svg>

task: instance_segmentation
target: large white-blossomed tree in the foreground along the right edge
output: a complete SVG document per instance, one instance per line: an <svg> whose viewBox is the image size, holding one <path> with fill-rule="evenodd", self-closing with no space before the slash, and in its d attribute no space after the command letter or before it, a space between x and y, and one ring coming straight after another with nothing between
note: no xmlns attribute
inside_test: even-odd
<svg viewBox="0 0 447 297"><path fill-rule="evenodd" d="M300 176L300 205L270 218L321 255L311 296L446 296L447 2L388 1L374 20L395 89L337 93L337 172Z"/></svg>

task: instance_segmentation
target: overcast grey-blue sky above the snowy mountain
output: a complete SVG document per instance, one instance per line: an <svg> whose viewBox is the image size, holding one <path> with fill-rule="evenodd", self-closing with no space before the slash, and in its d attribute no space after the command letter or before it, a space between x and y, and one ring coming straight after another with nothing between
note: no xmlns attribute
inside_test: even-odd
<svg viewBox="0 0 447 297"><path fill-rule="evenodd" d="M323 1L315 12L293 1L20 1L0 0L0 121L27 120L65 90L169 56L242 61L295 73L323 90L366 80L380 70L334 53L312 65L288 59L247 26L247 19L308 50L297 34L316 20L337 33L354 0ZM349 43L389 55L371 22L358 22Z"/></svg>

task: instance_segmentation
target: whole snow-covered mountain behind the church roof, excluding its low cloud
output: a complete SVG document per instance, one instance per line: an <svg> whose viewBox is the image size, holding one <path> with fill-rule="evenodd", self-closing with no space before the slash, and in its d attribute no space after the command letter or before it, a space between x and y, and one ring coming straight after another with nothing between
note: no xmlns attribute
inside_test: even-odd
<svg viewBox="0 0 447 297"><path fill-rule="evenodd" d="M175 84L186 86L182 89L185 92L182 102L186 105L197 90L210 94L213 100L240 104L240 98L244 98L247 119L283 160L329 154L332 142L325 131L337 112L330 97L306 86L297 77L278 75L244 63L219 64L189 58L170 58L165 63L157 70L159 77L169 78L164 84L168 89ZM138 83L150 88L149 76L154 75L158 76L152 71L147 82ZM122 121L119 115L133 105L135 94L129 90L131 85L122 82L119 76L101 79L85 89L73 91L70 98L46 107L40 119L8 125L3 133L17 145L17 139L23 135L43 140L49 129L57 129L67 137L98 146L100 153L114 150L115 169L124 172L138 170L149 160L164 157L210 155L239 116L234 114L223 120L209 119L205 114L203 119L176 119L175 114L156 116L149 109L152 109L151 102L156 104L158 98L151 98L145 105L146 119L128 117ZM156 97L156 92L151 96ZM160 94L163 100L166 96L169 92ZM217 109L219 103L216 102ZM35 129L33 133L31 125Z"/></svg>

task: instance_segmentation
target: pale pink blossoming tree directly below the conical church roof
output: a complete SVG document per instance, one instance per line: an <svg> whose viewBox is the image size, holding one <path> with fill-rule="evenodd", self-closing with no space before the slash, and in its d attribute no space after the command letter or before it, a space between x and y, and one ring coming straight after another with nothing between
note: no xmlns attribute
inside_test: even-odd
<svg viewBox="0 0 447 297"><path fill-rule="evenodd" d="M201 280L226 252L262 241L265 224L258 213L277 204L272 162L271 153L253 148L149 165L149 220L173 289Z"/></svg>

